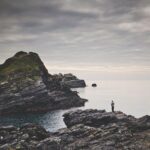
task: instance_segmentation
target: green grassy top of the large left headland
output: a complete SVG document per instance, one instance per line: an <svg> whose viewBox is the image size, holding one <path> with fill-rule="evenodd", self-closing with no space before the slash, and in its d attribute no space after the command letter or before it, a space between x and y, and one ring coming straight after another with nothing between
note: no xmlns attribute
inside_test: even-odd
<svg viewBox="0 0 150 150"><path fill-rule="evenodd" d="M9 76L19 72L32 73L36 78L40 74L40 65L41 60L37 54L15 55L0 65L0 81L8 80Z"/></svg>

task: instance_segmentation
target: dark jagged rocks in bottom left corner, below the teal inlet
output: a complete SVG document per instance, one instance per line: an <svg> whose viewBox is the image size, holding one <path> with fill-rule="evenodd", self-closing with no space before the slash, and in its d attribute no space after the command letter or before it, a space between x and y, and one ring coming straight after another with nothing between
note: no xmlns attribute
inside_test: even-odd
<svg viewBox="0 0 150 150"><path fill-rule="evenodd" d="M39 125L25 124L21 128L0 127L0 150L32 150L50 133Z"/></svg>

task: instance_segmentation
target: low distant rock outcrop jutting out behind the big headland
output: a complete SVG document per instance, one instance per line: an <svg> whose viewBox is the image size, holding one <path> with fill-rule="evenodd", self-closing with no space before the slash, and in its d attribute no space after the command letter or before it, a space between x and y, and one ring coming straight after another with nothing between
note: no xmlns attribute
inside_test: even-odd
<svg viewBox="0 0 150 150"><path fill-rule="evenodd" d="M59 75L55 75L59 81L60 84L63 87L69 87L69 88L83 88L86 87L85 81L78 79L76 76L74 76L73 74L69 73L69 74L59 74Z"/></svg>

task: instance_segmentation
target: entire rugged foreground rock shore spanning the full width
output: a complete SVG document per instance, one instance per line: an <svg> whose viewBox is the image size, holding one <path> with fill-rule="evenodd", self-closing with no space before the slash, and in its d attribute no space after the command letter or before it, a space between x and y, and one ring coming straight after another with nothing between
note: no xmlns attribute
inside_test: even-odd
<svg viewBox="0 0 150 150"><path fill-rule="evenodd" d="M0 149L149 150L150 116L85 110L64 115L68 128L49 133L37 125L1 127ZM4 140L5 139L5 140Z"/></svg>

